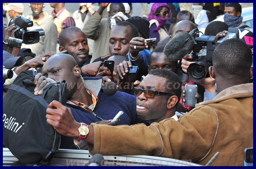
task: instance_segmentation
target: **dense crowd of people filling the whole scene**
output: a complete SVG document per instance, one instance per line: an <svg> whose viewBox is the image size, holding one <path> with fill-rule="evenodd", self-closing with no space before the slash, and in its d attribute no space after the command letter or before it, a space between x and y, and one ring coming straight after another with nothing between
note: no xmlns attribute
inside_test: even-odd
<svg viewBox="0 0 256 169"><path fill-rule="evenodd" d="M3 68L13 71L3 79L3 99L20 72L34 70L34 95L50 83L67 83L67 104L49 103L45 119L61 134L62 149L202 165L219 152L212 165L244 165L244 149L253 147L253 29L242 22L239 3L153 3L151 9L141 3L143 16L132 17L131 3L79 5L70 13L65 3L50 3L48 14L44 3L30 3L29 16L22 16L22 3L3 5L12 19L3 24ZM224 22L210 22L222 14ZM30 30L44 30L38 43L10 45L21 27L16 17L33 21ZM229 28L246 37L217 43ZM211 46L167 57L167 44L192 31L193 44L196 35L215 36ZM185 48L187 41L180 44ZM212 46L208 76L194 82L188 75L192 56L209 56ZM114 61L113 72L106 60ZM134 66L138 71L131 73ZM103 92L107 82L117 87L114 94ZM187 83L197 85L195 107L185 105ZM118 111L124 114L112 121Z"/></svg>

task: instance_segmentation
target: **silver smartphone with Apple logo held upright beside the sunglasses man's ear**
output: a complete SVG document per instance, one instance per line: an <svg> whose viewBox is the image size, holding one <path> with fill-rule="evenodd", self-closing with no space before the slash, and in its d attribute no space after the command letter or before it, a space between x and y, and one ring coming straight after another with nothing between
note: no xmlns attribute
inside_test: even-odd
<svg viewBox="0 0 256 169"><path fill-rule="evenodd" d="M185 84L185 99L184 103L186 106L195 107L196 105L196 94L197 94L197 85L196 84Z"/></svg>

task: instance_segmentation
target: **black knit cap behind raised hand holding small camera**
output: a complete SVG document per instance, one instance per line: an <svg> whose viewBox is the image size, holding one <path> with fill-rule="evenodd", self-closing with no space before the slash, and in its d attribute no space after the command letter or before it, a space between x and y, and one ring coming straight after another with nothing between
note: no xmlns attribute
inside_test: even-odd
<svg viewBox="0 0 256 169"><path fill-rule="evenodd" d="M140 34L143 36L142 38L148 39L149 38L149 33L150 33L150 28L149 28L149 21L147 19L144 19L143 17L140 16L132 16L129 17L127 20L125 20L133 25L138 29Z"/></svg>

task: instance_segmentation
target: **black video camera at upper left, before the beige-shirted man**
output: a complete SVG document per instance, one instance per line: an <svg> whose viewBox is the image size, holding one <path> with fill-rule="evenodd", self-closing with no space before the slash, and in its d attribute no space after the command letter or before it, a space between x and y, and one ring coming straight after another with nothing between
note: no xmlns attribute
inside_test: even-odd
<svg viewBox="0 0 256 169"><path fill-rule="evenodd" d="M27 27L33 26L33 21L27 19L21 15L13 18L16 25L14 30L15 38L22 39L25 44L35 44L39 42L40 36L44 36L45 32L43 29L28 30Z"/></svg>

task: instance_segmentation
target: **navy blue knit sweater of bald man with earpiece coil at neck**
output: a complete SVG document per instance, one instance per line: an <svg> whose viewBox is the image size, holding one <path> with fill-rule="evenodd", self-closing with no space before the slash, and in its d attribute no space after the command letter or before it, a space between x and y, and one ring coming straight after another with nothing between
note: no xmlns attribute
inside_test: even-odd
<svg viewBox="0 0 256 169"><path fill-rule="evenodd" d="M83 122L89 125L90 123L101 121L92 113L79 106L68 104L67 107L71 109L77 122ZM98 95L98 102L93 112L102 119L109 120L114 118L120 110L122 110L124 114L120 116L120 122L118 125L133 125L144 122L137 116L136 96L121 91L117 91L112 96L101 92ZM74 147L73 138L61 135L60 148L69 149L71 147Z"/></svg>

